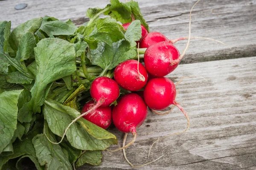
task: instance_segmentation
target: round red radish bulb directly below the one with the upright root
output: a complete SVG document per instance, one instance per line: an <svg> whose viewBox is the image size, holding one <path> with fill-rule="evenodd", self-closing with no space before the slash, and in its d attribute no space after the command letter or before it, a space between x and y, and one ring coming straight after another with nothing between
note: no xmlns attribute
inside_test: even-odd
<svg viewBox="0 0 256 170"><path fill-rule="evenodd" d="M144 100L149 108L161 111L174 104L176 88L172 80L166 77L151 79L144 89Z"/></svg>

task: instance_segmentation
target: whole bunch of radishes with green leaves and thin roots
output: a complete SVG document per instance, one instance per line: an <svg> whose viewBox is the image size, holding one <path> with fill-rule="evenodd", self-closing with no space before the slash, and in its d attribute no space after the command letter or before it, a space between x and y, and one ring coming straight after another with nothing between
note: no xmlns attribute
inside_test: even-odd
<svg viewBox="0 0 256 170"><path fill-rule="evenodd" d="M102 150L117 144L108 132L111 117L126 133L116 150L128 161L125 148L135 142L147 106L156 112L176 105L188 130L175 85L163 76L189 47L190 21L188 37L169 41L150 33L135 1L111 0L86 15L90 20L79 27L45 16L11 31L11 21L0 21L0 170L22 169L25 157L38 170L99 165ZM186 39L180 54L173 43ZM127 133L134 139L125 145Z"/></svg>

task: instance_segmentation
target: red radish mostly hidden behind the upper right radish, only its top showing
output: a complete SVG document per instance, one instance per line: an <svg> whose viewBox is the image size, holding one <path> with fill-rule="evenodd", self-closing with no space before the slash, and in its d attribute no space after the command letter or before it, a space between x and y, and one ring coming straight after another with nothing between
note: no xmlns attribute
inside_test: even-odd
<svg viewBox="0 0 256 170"><path fill-rule="evenodd" d="M148 48L157 42L170 42L170 40L160 32L150 32L146 34L140 42L140 48Z"/></svg>

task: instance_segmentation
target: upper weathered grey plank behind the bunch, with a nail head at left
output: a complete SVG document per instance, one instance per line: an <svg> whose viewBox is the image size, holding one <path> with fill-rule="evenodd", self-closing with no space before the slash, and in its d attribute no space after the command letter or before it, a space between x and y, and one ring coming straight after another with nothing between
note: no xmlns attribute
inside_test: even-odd
<svg viewBox="0 0 256 170"><path fill-rule="evenodd" d="M23 10L15 10L17 3L27 3ZM77 25L88 20L89 7L104 7L109 0L5 0L0 1L0 20L12 20L17 26L33 17L54 16L60 20L70 18ZM188 35L189 10L195 0L139 0L141 11L151 31L159 31L168 38ZM202 0L195 6L192 16L192 35L221 40L231 49L206 40L192 40L182 63L212 61L256 56L256 0ZM12 28L13 28L12 27ZM178 42L183 50L186 41Z"/></svg>

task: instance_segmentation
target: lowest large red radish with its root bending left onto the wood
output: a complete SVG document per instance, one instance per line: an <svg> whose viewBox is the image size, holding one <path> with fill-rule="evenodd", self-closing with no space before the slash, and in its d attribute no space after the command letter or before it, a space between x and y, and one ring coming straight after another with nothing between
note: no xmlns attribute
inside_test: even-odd
<svg viewBox="0 0 256 170"><path fill-rule="evenodd" d="M143 124L147 114L147 105L138 94L130 93L120 97L117 105L113 107L113 123L118 130L124 133L132 133L134 138L124 147L110 151L125 149L133 144L137 137L136 128Z"/></svg>

